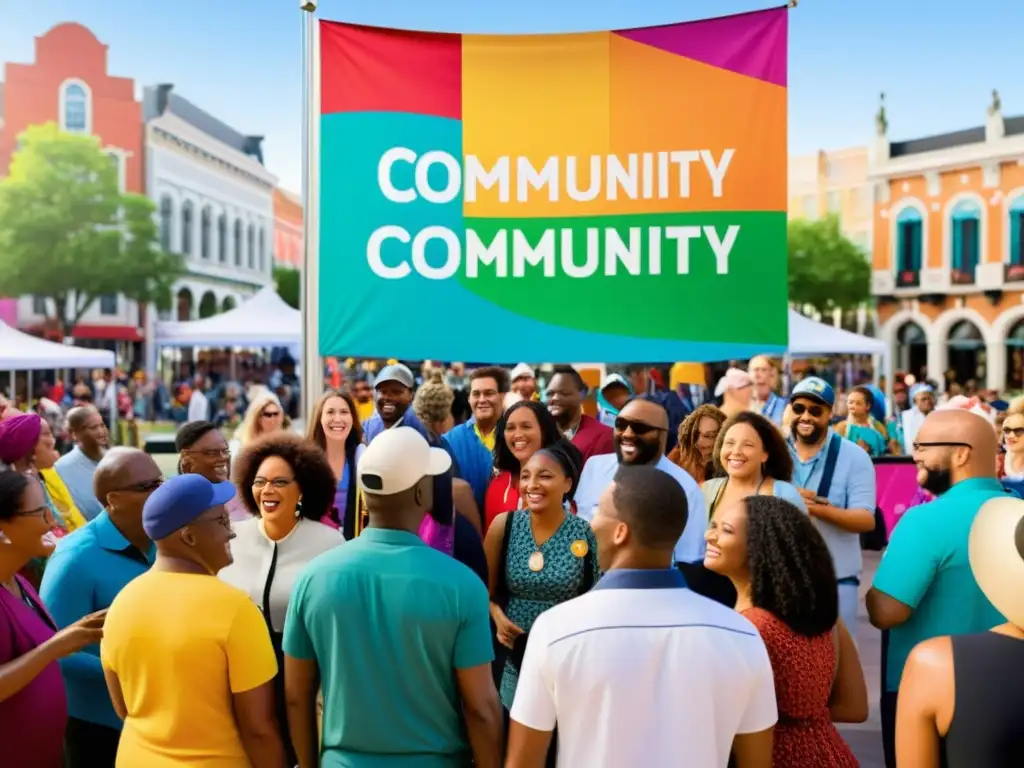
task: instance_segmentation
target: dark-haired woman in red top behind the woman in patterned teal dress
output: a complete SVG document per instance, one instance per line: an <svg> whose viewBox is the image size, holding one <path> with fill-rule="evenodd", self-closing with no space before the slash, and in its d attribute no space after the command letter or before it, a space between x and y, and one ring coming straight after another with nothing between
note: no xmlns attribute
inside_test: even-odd
<svg viewBox="0 0 1024 768"><path fill-rule="evenodd" d="M519 470L541 449L562 439L547 407L534 400L509 406L495 427L495 476L483 497L483 531L495 518L519 508Z"/></svg>

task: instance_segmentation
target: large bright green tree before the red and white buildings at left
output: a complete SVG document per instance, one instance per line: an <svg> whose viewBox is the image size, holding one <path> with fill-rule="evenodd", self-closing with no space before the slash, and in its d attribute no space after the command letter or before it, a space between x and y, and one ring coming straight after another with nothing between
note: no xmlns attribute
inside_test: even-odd
<svg viewBox="0 0 1024 768"><path fill-rule="evenodd" d="M65 333L104 294L169 309L181 259L161 249L153 203L120 190L97 139L47 123L18 145L0 180L0 295L50 299Z"/></svg>

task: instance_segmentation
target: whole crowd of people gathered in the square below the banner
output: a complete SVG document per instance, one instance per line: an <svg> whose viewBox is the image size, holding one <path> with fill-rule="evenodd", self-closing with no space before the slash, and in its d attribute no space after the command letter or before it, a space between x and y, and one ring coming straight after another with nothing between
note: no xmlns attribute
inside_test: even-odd
<svg viewBox="0 0 1024 768"><path fill-rule="evenodd" d="M395 362L304 435L272 391L187 422L170 478L93 404L57 458L0 402L0 762L855 766L874 394L843 419L825 380L777 382L755 358L712 404L609 377L592 417L568 367ZM998 457L1024 421L919 411L931 501L866 597L887 763L1013 765L1024 501Z"/></svg>

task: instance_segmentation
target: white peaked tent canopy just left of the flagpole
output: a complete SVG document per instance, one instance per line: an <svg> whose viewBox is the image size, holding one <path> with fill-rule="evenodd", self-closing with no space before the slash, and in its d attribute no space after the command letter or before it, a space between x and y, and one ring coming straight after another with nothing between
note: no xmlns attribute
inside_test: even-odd
<svg viewBox="0 0 1024 768"><path fill-rule="evenodd" d="M158 323L156 341L166 347L292 347L302 343L302 314L268 286L223 314Z"/></svg>

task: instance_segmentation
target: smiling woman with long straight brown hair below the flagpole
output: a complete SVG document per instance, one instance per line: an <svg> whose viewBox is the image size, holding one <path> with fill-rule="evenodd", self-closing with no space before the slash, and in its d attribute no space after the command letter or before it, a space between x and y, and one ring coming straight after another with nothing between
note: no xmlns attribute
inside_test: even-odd
<svg viewBox="0 0 1024 768"><path fill-rule="evenodd" d="M334 503L321 522L340 528L345 539L354 539L362 530L364 522L358 483L354 479L355 465L367 446L362 444L362 425L352 395L340 389L325 392L309 417L306 440L327 455L337 481Z"/></svg>

